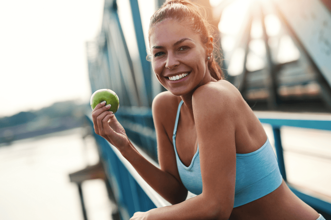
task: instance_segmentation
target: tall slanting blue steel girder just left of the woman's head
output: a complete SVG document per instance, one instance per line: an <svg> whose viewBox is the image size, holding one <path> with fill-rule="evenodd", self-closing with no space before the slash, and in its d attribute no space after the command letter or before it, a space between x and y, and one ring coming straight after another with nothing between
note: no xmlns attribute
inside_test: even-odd
<svg viewBox="0 0 331 220"><path fill-rule="evenodd" d="M138 44L140 62L145 79L144 81L145 81L145 87L146 87L147 99L148 99L148 106L146 107L152 107L153 96L152 96L151 64L146 60L147 52L146 52L143 28L141 24L138 1L130 0L130 6L131 6L134 30L136 33L136 39Z"/></svg>

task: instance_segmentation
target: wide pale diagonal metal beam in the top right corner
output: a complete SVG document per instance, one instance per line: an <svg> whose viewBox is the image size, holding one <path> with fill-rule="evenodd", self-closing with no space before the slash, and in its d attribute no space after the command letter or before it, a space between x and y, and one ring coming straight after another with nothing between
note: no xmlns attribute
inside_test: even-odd
<svg viewBox="0 0 331 220"><path fill-rule="evenodd" d="M331 85L331 14L319 0L273 0Z"/></svg>

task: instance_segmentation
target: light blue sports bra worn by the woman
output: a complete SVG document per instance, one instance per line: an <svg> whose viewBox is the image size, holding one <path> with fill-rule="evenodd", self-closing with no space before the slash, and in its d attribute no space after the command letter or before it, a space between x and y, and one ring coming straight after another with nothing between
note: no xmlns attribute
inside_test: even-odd
<svg viewBox="0 0 331 220"><path fill-rule="evenodd" d="M202 193L199 144L189 167L186 167L180 161L176 149L176 131L182 104L183 100L178 106L172 142L176 153L177 168L181 181L188 191L199 195ZM271 193L280 186L282 180L283 178L279 172L277 158L269 139L267 139L260 149L254 152L236 154L236 186L233 207L235 208L252 202Z"/></svg>

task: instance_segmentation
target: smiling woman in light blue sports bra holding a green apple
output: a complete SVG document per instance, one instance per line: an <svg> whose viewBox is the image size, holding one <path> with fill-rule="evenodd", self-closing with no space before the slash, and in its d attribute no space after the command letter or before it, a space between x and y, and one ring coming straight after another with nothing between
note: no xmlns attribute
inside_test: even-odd
<svg viewBox="0 0 331 220"><path fill-rule="evenodd" d="M110 105L92 112L95 132L173 204L131 219L324 219L282 179L259 119L222 79L207 27L183 0L167 1L151 18L152 67L168 90L152 104L161 169L133 147ZM185 201L188 190L198 195Z"/></svg>

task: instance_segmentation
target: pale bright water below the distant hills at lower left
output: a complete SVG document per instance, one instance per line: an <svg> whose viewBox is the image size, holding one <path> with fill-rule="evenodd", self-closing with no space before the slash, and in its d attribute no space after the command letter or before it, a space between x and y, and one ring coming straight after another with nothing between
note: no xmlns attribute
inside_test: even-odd
<svg viewBox="0 0 331 220"><path fill-rule="evenodd" d="M92 137L82 128L0 147L1 220L82 220L78 188L69 173L99 161ZM83 182L89 220L110 220L112 204L102 180Z"/></svg>

